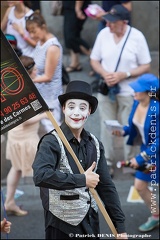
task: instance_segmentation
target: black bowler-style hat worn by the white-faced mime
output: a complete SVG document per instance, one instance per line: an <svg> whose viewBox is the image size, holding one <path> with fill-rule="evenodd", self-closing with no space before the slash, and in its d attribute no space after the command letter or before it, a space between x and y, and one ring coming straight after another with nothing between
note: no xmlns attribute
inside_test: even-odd
<svg viewBox="0 0 160 240"><path fill-rule="evenodd" d="M83 99L90 103L91 105L91 114L96 111L98 106L97 98L92 96L91 86L84 81L75 80L71 81L66 88L66 93L58 96L61 106L68 99Z"/></svg>

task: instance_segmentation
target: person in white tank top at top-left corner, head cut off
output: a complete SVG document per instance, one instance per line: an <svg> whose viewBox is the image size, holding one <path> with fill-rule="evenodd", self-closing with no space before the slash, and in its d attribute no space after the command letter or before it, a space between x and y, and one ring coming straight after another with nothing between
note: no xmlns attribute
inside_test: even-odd
<svg viewBox="0 0 160 240"><path fill-rule="evenodd" d="M33 56L36 42L32 40L26 30L26 18L33 13L30 1L7 1L8 9L1 22L1 30L7 34L14 35L17 39L17 47L22 54Z"/></svg>

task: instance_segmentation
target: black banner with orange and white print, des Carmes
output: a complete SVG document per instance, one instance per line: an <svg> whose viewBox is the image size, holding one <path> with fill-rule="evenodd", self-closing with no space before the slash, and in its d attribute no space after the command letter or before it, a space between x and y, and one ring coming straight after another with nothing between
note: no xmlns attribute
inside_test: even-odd
<svg viewBox="0 0 160 240"><path fill-rule="evenodd" d="M48 109L1 31L1 134Z"/></svg>

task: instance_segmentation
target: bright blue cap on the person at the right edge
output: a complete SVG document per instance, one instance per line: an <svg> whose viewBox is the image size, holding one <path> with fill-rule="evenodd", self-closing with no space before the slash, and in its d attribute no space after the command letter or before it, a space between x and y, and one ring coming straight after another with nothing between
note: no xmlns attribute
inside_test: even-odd
<svg viewBox="0 0 160 240"><path fill-rule="evenodd" d="M135 92L156 92L159 89L159 79L152 73L146 73L129 85Z"/></svg>

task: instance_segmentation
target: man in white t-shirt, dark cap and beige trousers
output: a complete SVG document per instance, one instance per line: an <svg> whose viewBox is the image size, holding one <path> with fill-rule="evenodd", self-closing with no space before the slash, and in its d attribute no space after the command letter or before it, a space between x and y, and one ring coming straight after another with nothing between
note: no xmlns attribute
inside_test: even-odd
<svg viewBox="0 0 160 240"><path fill-rule="evenodd" d="M129 83L150 71L151 57L143 34L128 25L130 12L123 5L114 5L110 13L103 18L107 27L97 35L90 59L93 69L110 88L108 95L100 92L97 97L101 119L101 140L105 144L106 160L112 164L115 158L112 148L113 138L109 131L106 132L104 121L119 118L121 124L127 124L126 116L129 115L133 104L133 90ZM115 71L117 63L119 65ZM112 91L116 85L119 87L117 94ZM124 159L132 158L136 151L135 147L126 145L125 138Z"/></svg>

